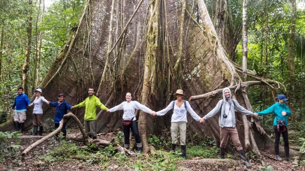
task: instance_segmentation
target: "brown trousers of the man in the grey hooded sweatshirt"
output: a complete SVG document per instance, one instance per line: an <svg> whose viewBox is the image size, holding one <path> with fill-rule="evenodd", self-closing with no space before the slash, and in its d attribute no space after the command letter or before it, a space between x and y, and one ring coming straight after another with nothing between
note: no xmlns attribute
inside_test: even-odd
<svg viewBox="0 0 305 171"><path fill-rule="evenodd" d="M236 127L220 127L220 148L226 148L227 138L229 135L237 151L242 150L242 145L240 144Z"/></svg>

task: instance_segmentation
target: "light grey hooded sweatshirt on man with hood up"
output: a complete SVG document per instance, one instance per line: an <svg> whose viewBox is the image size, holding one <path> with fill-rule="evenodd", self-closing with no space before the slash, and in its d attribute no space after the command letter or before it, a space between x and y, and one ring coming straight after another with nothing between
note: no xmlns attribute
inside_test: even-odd
<svg viewBox="0 0 305 171"><path fill-rule="evenodd" d="M241 114L244 114L244 115L253 115L253 112L251 111L248 111L247 109L243 108L240 104L238 104L238 102L235 100L235 99L232 99L231 96L231 90L226 87L222 90L222 97L223 97L223 100L220 100L218 101L217 105L215 108L213 108L213 110L211 110L207 115L205 115L203 118L204 119L209 119L211 118L212 116L216 115L217 113L220 112L220 116L219 116L219 126L221 128L224 127L224 123L226 122L226 119L228 118L224 118L223 115L224 113L227 114L228 111L225 111L225 102L226 102L226 98L224 96L224 91L225 90L228 90L230 92L230 97L228 98L228 103L230 104L230 111L231 111L231 114L232 114L232 118L231 118L231 122L232 122L232 127L235 127L235 124L236 124L236 120L235 120L235 111L234 109L236 109L238 112L240 112ZM228 121L227 121L228 122Z"/></svg>

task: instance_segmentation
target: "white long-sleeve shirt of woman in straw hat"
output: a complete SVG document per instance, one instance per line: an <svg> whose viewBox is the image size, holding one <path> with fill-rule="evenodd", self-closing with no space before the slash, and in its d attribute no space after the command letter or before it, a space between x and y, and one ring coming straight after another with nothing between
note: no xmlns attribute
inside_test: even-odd
<svg viewBox="0 0 305 171"><path fill-rule="evenodd" d="M174 105L174 112L171 118L171 122L188 122L186 112L191 114L191 116L196 120L199 121L201 118L196 114L196 112L192 109L190 103L186 101L186 110L184 103L182 103L182 106L179 108L176 105L177 100L175 100L175 105ZM170 104L165 108L157 112L157 116L163 116L165 115L169 110L173 108L173 102L170 102Z"/></svg>

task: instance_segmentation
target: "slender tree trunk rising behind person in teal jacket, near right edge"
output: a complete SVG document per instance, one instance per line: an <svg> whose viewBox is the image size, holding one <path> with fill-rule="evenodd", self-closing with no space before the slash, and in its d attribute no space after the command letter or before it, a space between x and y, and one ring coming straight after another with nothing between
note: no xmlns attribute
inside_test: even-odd
<svg viewBox="0 0 305 171"><path fill-rule="evenodd" d="M293 42L295 38L296 32L296 0L292 0L292 23L291 23L291 34L289 39L288 45L288 57L289 57L289 108L291 110L291 120L295 119L295 112L294 112L294 86L295 86L295 63L294 63L294 56L293 56Z"/></svg>

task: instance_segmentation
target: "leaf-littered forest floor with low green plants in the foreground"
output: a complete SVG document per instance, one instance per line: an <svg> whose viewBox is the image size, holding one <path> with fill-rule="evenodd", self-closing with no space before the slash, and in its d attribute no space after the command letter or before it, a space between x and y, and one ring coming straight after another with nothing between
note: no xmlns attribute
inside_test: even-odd
<svg viewBox="0 0 305 171"><path fill-rule="evenodd" d="M46 135L47 133L44 133ZM30 135L30 132L23 132L23 135ZM99 139L111 139L114 135L100 135ZM59 171L77 171L77 170L260 170L261 164L258 161L251 161L251 167L246 168L242 164L242 160L234 155L232 158L239 162L237 166L204 164L199 162L202 157L197 156L192 159L183 160L180 153L172 155L169 152L162 152L169 155L169 162L164 162L161 156L143 155L126 156L114 151L114 148L107 149L79 149L83 146L81 142L73 140L56 141L54 137L45 141L32 149L22 159L21 153L29 145L40 138L21 138L20 149L16 155L3 163L0 163L0 170L59 170ZM199 149L200 150L200 149ZM158 151L160 152L160 151ZM188 153L187 153L188 155ZM75 159L73 156L81 156ZM215 158L219 158L217 153ZM211 159L212 160L212 159ZM267 166L272 166L274 170L290 171L305 170L304 166L294 167L292 162L276 161L274 159L265 158L264 162ZM268 169L269 170L269 169Z"/></svg>

